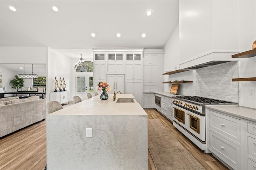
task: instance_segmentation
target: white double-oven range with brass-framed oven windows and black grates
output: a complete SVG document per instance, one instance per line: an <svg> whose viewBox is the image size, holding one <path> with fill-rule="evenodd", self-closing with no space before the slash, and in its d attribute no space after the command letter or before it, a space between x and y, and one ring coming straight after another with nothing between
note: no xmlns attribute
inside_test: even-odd
<svg viewBox="0 0 256 170"><path fill-rule="evenodd" d="M176 96L173 98L173 125L201 150L206 150L206 105L238 105L230 101L221 101L198 96Z"/></svg>

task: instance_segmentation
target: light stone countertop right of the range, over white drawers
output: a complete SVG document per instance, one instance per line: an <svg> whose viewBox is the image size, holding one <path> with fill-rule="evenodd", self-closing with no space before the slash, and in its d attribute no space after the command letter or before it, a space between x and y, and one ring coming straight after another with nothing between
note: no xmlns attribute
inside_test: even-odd
<svg viewBox="0 0 256 170"><path fill-rule="evenodd" d="M256 109L236 105L207 105L206 108L256 122Z"/></svg>

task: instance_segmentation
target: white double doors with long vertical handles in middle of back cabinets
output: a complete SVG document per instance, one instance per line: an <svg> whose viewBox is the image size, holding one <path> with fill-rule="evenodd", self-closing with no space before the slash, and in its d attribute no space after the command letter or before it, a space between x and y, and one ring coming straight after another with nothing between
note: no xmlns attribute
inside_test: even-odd
<svg viewBox="0 0 256 170"><path fill-rule="evenodd" d="M108 93L114 93L114 92L118 92L121 91L122 93L124 93L124 74L111 74L111 75L107 75L107 82L111 87L111 91Z"/></svg>

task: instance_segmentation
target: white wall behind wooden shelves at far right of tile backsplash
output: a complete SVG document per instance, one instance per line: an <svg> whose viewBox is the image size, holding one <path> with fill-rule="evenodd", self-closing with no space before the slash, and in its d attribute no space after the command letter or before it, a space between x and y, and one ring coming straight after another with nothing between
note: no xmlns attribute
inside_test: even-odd
<svg viewBox="0 0 256 170"><path fill-rule="evenodd" d="M251 50L256 40L256 1L240 1L239 17L239 47L243 52ZM256 77L256 57L241 58L239 64L239 78ZM256 95L249 96L249 89L256 91L256 81L239 82L239 104L256 109Z"/></svg>

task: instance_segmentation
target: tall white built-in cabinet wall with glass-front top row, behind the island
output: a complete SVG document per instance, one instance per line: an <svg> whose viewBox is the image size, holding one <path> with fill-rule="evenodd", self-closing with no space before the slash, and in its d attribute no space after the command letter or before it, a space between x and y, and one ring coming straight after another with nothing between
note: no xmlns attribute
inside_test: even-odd
<svg viewBox="0 0 256 170"><path fill-rule="evenodd" d="M142 106L143 48L92 48L92 51L94 91L99 81L107 81L112 89L109 93L131 93Z"/></svg>

